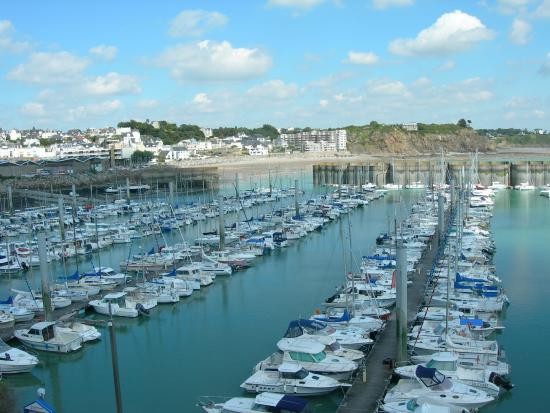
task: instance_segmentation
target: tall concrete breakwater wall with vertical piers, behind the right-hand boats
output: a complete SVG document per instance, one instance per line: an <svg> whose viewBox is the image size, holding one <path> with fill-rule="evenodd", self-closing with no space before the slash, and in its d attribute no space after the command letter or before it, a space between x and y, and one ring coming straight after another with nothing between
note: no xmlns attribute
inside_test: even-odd
<svg viewBox="0 0 550 413"><path fill-rule="evenodd" d="M550 159L548 160L450 160L440 159L398 159L377 160L365 163L323 163L313 165L313 183L362 185L367 182L376 185L395 183L407 185L422 182L427 185L440 182L458 182L464 171L466 179L491 185L498 181L514 186L521 182L544 186L550 183ZM474 175L477 175L474 176Z"/></svg>

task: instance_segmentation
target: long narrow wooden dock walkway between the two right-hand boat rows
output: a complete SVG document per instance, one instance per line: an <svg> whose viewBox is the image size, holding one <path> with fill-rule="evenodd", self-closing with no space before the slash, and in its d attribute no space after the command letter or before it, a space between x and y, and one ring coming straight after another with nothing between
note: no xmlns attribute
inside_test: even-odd
<svg viewBox="0 0 550 413"><path fill-rule="evenodd" d="M416 266L413 283L407 289L408 320L414 319L418 308L422 305L428 275L435 263L438 250L439 238L435 235ZM357 374L352 387L340 403L337 413L372 413L378 410L393 373L393 366L390 366L387 361L395 360L396 353L397 321L394 311L367 355L364 370Z"/></svg>

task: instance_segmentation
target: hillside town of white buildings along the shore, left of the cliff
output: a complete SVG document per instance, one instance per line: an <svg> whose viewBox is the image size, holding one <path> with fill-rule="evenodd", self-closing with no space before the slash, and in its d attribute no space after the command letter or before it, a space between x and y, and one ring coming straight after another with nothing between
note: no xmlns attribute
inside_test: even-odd
<svg viewBox="0 0 550 413"><path fill-rule="evenodd" d="M151 122L158 128L158 122ZM276 138L244 132L233 136L214 136L211 128L201 128L203 139L183 139L174 144L140 133L131 127L98 129L3 130L0 129L0 159L4 160L59 160L65 158L131 159L137 152L147 151L152 161L177 162L201 159L214 155L242 154L266 156L270 153L337 152L345 151L345 129L336 130L285 130Z"/></svg>

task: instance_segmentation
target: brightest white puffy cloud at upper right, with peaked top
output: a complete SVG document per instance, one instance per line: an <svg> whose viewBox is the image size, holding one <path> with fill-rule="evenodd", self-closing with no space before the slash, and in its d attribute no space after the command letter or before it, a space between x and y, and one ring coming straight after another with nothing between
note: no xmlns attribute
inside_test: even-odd
<svg viewBox="0 0 550 413"><path fill-rule="evenodd" d="M392 41L389 49L403 56L442 55L468 50L474 44L492 38L493 32L481 20L455 10L441 15L414 39Z"/></svg>

